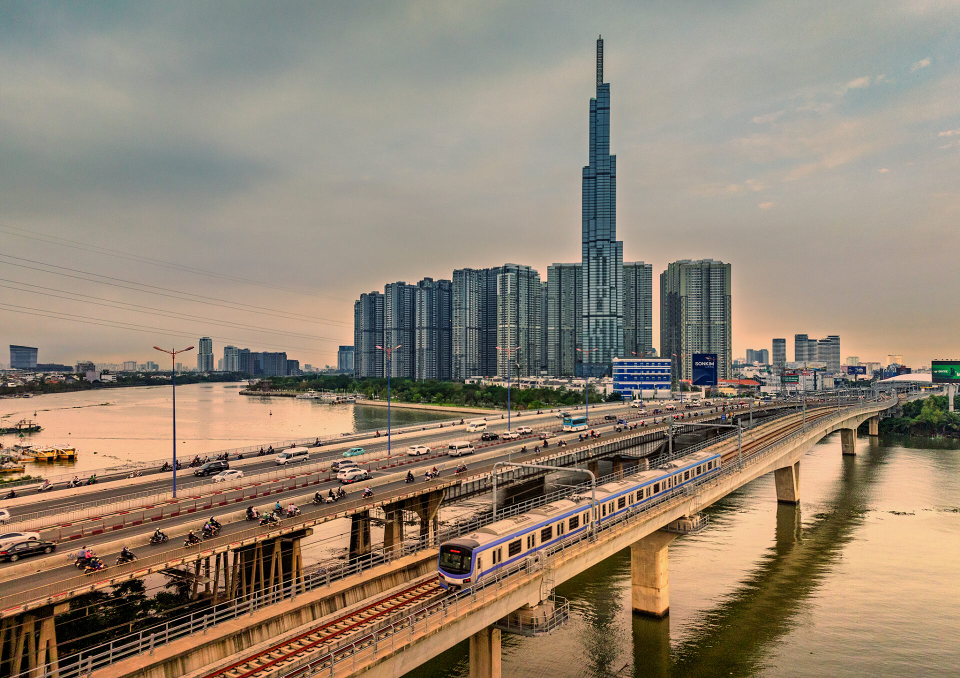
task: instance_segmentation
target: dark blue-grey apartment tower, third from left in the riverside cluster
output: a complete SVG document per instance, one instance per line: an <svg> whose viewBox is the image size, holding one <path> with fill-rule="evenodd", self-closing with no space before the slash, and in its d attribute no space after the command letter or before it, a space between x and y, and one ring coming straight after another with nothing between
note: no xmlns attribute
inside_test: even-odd
<svg viewBox="0 0 960 678"><path fill-rule="evenodd" d="M452 378L453 283L450 280L423 278L417 283L413 344L416 378Z"/></svg>

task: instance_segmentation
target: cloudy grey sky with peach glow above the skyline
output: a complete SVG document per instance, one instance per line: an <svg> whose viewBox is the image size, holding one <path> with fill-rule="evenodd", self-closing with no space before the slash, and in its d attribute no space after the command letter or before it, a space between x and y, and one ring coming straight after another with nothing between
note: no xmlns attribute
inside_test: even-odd
<svg viewBox="0 0 960 678"><path fill-rule="evenodd" d="M3 0L0 342L335 364L386 282L579 261L602 34L655 346L660 271L715 258L734 357L960 357L958 29L938 0Z"/></svg>

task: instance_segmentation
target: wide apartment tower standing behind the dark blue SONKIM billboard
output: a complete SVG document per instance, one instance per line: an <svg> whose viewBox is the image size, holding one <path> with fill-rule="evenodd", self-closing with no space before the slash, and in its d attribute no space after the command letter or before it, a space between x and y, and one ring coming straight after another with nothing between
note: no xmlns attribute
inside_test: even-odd
<svg viewBox="0 0 960 678"><path fill-rule="evenodd" d="M731 347L731 265L668 264L660 274L660 355L673 358L673 374L689 379L693 353L716 353L717 377L729 379Z"/></svg>

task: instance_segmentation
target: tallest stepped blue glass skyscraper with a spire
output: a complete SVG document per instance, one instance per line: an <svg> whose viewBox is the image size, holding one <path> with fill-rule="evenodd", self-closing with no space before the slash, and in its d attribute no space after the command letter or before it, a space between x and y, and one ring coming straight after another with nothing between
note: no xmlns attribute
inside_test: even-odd
<svg viewBox="0 0 960 678"><path fill-rule="evenodd" d="M610 155L610 85L597 39L590 99L589 164L583 171L584 374L604 375L623 354L623 243L616 239L616 156Z"/></svg>

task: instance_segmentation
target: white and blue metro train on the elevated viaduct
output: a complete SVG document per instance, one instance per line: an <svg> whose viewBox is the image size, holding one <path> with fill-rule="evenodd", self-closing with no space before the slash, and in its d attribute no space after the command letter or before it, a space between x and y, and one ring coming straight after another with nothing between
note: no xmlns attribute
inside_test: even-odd
<svg viewBox="0 0 960 678"><path fill-rule="evenodd" d="M596 489L592 522L599 527L688 483L720 472L720 455L692 452L657 469ZM496 521L440 546L437 564L444 589L464 589L538 551L575 539L592 526L590 496L560 499Z"/></svg>

